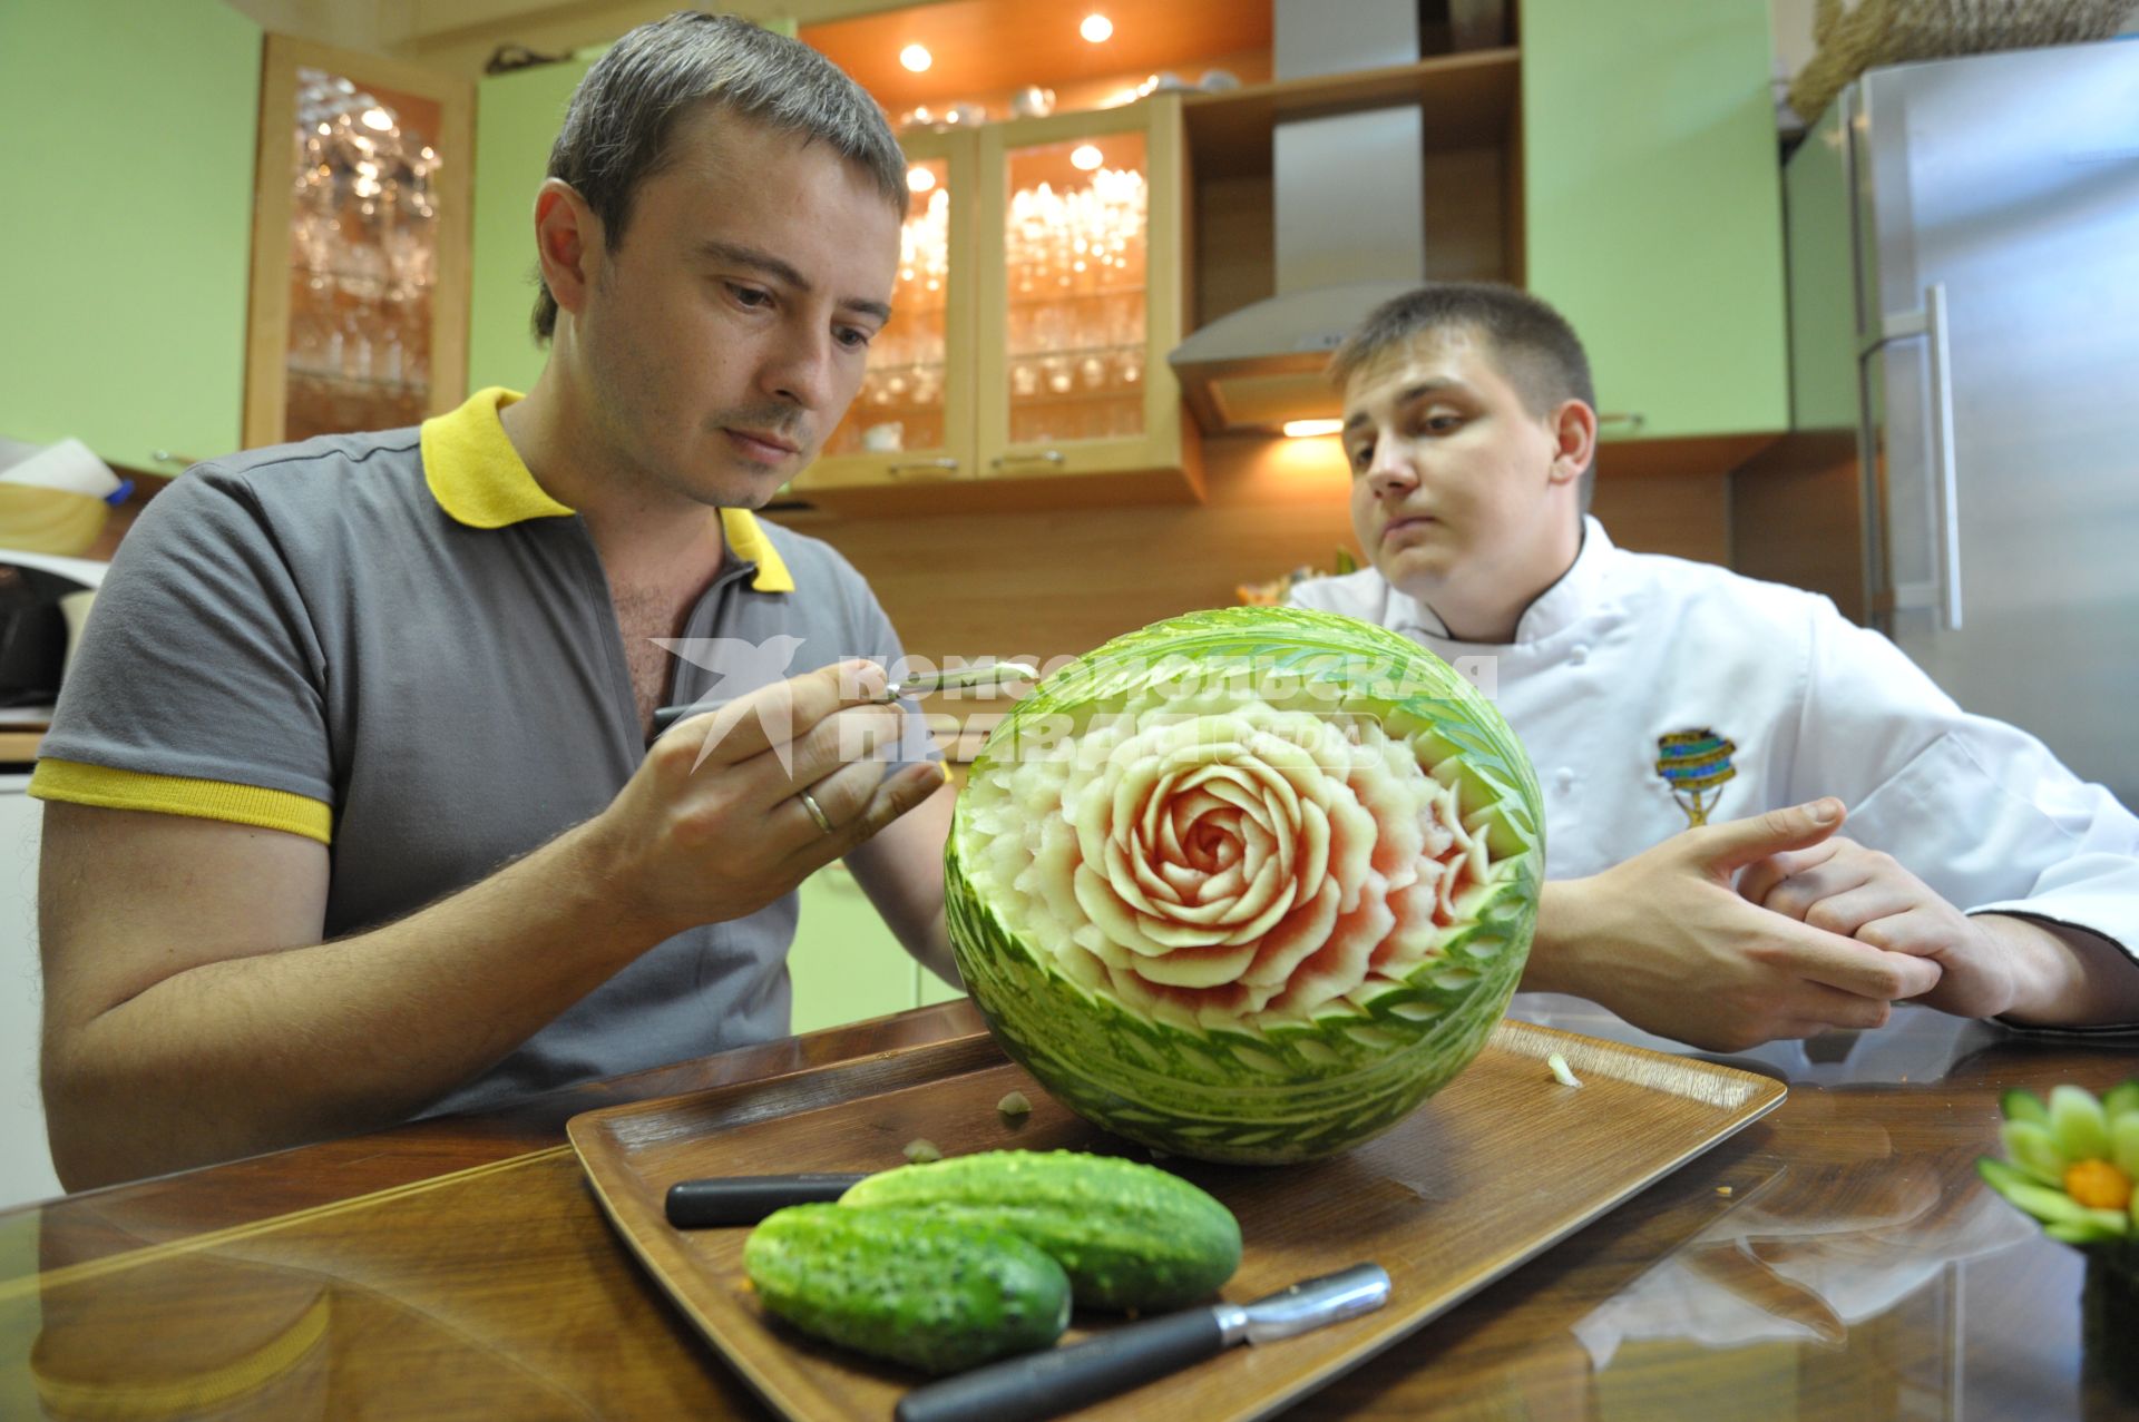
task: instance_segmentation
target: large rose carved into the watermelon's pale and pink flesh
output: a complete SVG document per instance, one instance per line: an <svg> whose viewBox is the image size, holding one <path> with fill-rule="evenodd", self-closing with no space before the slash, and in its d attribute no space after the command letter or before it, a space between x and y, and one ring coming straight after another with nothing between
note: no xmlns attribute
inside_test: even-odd
<svg viewBox="0 0 2139 1422"><path fill-rule="evenodd" d="M1022 802L1016 772L1010 789ZM1410 746L1262 704L1091 731L1059 802L1025 821L1020 887L1074 926L1065 952L1166 1018L1305 1020L1418 964L1487 868L1455 789Z"/></svg>

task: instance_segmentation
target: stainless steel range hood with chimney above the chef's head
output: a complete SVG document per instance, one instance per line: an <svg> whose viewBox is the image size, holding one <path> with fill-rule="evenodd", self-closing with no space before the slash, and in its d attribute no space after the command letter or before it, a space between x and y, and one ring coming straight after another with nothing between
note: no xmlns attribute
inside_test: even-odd
<svg viewBox="0 0 2139 1422"><path fill-rule="evenodd" d="M1277 79L1418 60L1416 0L1275 0ZM1416 103L1277 124L1271 192L1277 295L1243 306L1166 359L1206 434L1328 419L1330 351L1382 302L1425 280L1422 118Z"/></svg>

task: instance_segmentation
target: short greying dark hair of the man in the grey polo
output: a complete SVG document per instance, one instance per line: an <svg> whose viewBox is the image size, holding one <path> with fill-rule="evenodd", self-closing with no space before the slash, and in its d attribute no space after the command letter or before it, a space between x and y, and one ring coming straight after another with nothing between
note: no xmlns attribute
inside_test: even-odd
<svg viewBox="0 0 2139 1422"><path fill-rule="evenodd" d="M907 158L860 83L809 45L749 19L676 11L595 60L550 148L550 177L586 199L610 248L625 242L640 184L676 160L678 120L702 105L830 145L875 180L901 220L907 216ZM535 338L550 340L556 297L539 269L535 280Z"/></svg>

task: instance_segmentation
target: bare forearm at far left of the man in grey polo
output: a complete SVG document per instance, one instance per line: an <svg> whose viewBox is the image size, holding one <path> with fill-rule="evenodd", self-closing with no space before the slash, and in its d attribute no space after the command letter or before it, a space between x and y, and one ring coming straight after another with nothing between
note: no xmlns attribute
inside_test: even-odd
<svg viewBox="0 0 2139 1422"><path fill-rule="evenodd" d="M586 825L411 917L186 969L47 1033L71 1189L406 1118L665 937L605 902Z"/></svg>

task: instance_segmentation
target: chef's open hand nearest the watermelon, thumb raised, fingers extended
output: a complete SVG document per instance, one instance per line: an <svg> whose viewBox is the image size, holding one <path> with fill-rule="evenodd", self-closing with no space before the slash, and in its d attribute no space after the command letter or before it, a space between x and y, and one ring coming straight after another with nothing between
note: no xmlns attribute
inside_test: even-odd
<svg viewBox="0 0 2139 1422"><path fill-rule="evenodd" d="M1741 1052L1887 1022L1938 984L1936 960L1882 952L1763 909L1737 870L1842 828L1842 802L1686 830L1589 879L1544 885L1525 990L1587 996L1645 1031Z"/></svg>

